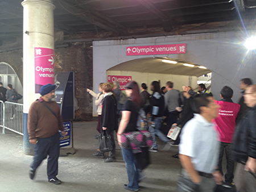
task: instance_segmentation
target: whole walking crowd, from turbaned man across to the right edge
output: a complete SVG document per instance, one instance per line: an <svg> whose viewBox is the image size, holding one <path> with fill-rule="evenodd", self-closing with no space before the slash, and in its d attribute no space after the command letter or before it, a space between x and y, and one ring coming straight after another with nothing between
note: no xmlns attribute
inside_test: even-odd
<svg viewBox="0 0 256 192"><path fill-rule="evenodd" d="M159 150L158 137L166 145L179 145L179 153L174 156L182 166L177 191L208 192L225 184L231 189L236 185L240 192L253 192L256 189L256 85L245 78L241 80L241 89L239 103L232 101L234 93L229 86L220 90L220 101L214 100L204 84L199 85L197 92L189 86L180 92L171 81L162 88L160 82L153 81L152 94L148 93L146 84L139 87L135 81L125 86L125 93L119 89L118 82L101 83L98 94L87 89L97 106L99 135L96 137L101 140L106 133L111 145L108 156L100 149L93 155L104 158L106 163L115 162L117 141L127 169L128 183L124 188L139 191L143 170L150 164L149 152ZM63 132L60 111L52 101L52 85L43 86L40 93L42 97L31 105L28 114L30 141L38 146L30 178L34 179L36 168L49 155L48 180L60 184L56 177L59 148L53 144L57 131ZM52 122L46 122L43 115L49 112L56 117ZM49 123L56 130L47 131ZM38 124L42 125L39 129ZM181 132L176 140L171 140L164 128L170 130L177 126ZM222 168L224 153L226 173Z"/></svg>

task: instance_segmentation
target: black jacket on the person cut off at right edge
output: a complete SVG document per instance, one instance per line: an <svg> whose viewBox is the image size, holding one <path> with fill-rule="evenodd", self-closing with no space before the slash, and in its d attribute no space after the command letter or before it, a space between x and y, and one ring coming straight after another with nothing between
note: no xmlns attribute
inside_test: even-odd
<svg viewBox="0 0 256 192"><path fill-rule="evenodd" d="M240 120L233 137L233 160L245 163L248 157L256 158L256 106Z"/></svg>

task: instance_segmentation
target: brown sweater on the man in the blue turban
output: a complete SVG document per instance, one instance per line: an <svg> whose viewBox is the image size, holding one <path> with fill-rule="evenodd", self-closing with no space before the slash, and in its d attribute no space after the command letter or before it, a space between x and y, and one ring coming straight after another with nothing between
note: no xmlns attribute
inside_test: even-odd
<svg viewBox="0 0 256 192"><path fill-rule="evenodd" d="M42 102L55 112L57 118ZM64 131L60 107L57 103L45 102L42 98L32 103L28 112L27 130L30 139L51 137L59 130Z"/></svg>

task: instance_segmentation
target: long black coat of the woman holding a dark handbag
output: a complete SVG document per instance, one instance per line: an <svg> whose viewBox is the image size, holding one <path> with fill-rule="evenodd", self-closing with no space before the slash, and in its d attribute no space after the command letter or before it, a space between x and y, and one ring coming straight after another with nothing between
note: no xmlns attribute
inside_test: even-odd
<svg viewBox="0 0 256 192"><path fill-rule="evenodd" d="M101 127L108 128L107 131L111 132L117 130L117 99L114 95L108 95L103 99L102 114L101 114Z"/></svg>

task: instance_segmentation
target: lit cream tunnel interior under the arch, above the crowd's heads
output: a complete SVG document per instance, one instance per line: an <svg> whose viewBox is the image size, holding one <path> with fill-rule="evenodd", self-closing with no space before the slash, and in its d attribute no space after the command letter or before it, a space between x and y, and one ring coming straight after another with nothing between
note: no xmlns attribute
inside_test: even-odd
<svg viewBox="0 0 256 192"><path fill-rule="evenodd" d="M212 77L211 70L200 64L168 57L147 57L122 62L106 73L108 76L131 76L138 84L150 85L152 81L159 81L161 86L165 86L167 81L172 81L174 88L180 91L182 86L196 89L201 83L210 89Z"/></svg>

